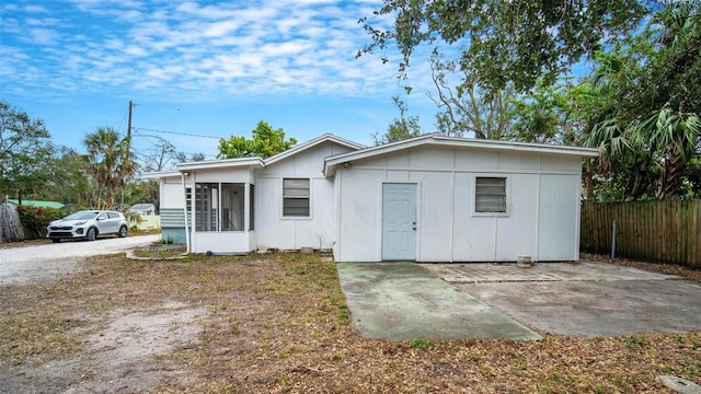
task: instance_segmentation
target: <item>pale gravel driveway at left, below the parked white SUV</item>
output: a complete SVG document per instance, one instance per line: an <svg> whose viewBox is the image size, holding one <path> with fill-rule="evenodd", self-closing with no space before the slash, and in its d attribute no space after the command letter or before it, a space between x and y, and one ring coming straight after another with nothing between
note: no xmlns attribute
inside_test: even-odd
<svg viewBox="0 0 701 394"><path fill-rule="evenodd" d="M120 253L160 239L154 234L0 248L0 285L56 280L79 269L83 257Z"/></svg>

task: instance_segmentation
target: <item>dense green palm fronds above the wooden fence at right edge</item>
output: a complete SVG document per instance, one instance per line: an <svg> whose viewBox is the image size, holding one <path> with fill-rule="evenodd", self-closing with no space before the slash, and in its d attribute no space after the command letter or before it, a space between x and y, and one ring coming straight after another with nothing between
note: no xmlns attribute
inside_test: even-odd
<svg viewBox="0 0 701 394"><path fill-rule="evenodd" d="M701 2L663 3L644 32L597 56L585 143L621 199L699 194Z"/></svg>

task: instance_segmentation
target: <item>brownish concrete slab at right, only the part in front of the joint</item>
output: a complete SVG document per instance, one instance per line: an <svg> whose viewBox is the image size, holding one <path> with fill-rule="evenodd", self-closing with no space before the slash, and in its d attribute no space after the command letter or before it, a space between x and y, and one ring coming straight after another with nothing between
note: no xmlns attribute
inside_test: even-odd
<svg viewBox="0 0 701 394"><path fill-rule="evenodd" d="M701 329L701 286L678 280L456 286L539 333L596 337Z"/></svg>

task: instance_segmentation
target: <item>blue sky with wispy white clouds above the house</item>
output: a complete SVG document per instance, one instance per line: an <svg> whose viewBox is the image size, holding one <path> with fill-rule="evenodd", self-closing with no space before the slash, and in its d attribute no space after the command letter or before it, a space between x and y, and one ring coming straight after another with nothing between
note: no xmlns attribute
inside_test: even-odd
<svg viewBox="0 0 701 394"><path fill-rule="evenodd" d="M369 144L399 116L393 95L433 131L425 61L413 60L409 83L416 93L404 96L397 61L355 58L369 43L358 20L380 5L3 0L0 100L44 119L55 143L81 152L81 140L97 127L126 131L129 100L137 104L140 154L157 136L214 159L219 137L250 137L258 120L300 142L334 132ZM397 60L399 54L382 56Z"/></svg>

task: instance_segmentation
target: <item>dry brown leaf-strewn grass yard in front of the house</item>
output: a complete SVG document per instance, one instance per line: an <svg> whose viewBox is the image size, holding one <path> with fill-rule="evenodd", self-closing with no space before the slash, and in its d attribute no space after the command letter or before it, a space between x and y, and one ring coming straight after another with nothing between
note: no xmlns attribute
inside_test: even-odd
<svg viewBox="0 0 701 394"><path fill-rule="evenodd" d="M156 392L664 393L657 374L701 376L701 332L528 343L365 339L348 324L333 262L315 255L111 256L87 268L49 285L2 288L1 368L88 351L81 333L115 309L181 302L207 310L199 340L152 361L191 379Z"/></svg>

